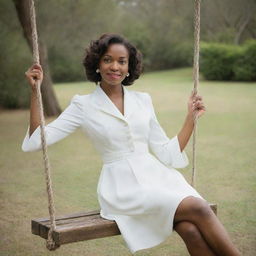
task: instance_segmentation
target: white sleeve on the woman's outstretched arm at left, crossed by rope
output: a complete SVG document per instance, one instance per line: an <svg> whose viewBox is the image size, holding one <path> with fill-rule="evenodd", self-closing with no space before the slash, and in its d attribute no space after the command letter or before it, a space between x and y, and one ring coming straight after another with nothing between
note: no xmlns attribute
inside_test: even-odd
<svg viewBox="0 0 256 256"><path fill-rule="evenodd" d="M82 97L75 95L70 105L59 115L57 119L45 126L46 143L52 145L74 132L83 122ZM29 137L29 128L22 143L24 152L41 149L40 126Z"/></svg>

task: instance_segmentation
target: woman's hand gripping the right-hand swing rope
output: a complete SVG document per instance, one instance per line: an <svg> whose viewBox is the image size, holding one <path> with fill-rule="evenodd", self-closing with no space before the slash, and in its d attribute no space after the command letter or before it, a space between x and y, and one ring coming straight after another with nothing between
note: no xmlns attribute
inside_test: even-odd
<svg viewBox="0 0 256 256"><path fill-rule="evenodd" d="M199 118L205 112L205 106L203 103L203 98L200 95L192 92L188 101L188 114L193 116L194 118Z"/></svg>

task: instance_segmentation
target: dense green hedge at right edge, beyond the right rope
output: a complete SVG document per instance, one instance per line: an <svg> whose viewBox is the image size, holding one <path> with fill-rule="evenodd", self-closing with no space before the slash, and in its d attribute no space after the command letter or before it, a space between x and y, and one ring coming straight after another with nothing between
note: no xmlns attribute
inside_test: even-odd
<svg viewBox="0 0 256 256"><path fill-rule="evenodd" d="M203 43L200 69L208 80L256 81L256 40L243 46Z"/></svg>

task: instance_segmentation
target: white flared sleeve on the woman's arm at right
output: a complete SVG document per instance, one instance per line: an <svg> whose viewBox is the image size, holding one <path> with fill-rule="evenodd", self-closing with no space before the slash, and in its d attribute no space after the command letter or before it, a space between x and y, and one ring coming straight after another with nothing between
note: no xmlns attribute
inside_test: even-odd
<svg viewBox="0 0 256 256"><path fill-rule="evenodd" d="M188 165L186 153L180 151L180 145L177 135L168 138L165 131L159 124L151 96L147 95L148 108L151 112L150 132L149 132L149 149L165 165L173 168L184 168Z"/></svg>

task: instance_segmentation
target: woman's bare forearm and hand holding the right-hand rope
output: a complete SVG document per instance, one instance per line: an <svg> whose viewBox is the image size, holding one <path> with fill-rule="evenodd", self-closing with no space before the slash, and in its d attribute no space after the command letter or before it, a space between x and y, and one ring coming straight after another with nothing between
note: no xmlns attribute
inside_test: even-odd
<svg viewBox="0 0 256 256"><path fill-rule="evenodd" d="M185 122L178 133L178 140L181 152L186 147L194 129L194 118L199 118L205 112L205 106L201 96L191 94L188 101L188 113Z"/></svg>

